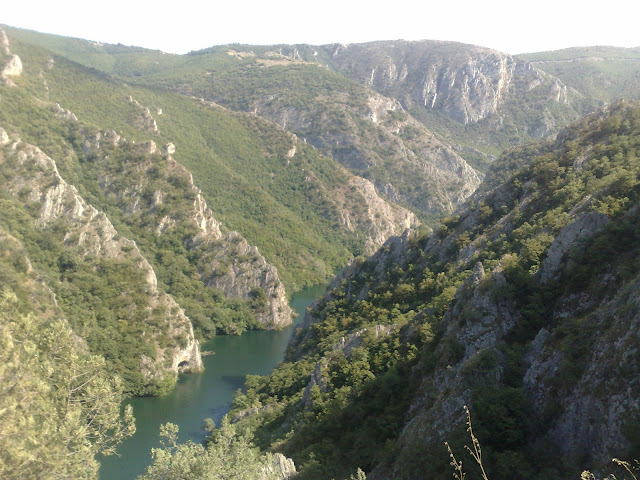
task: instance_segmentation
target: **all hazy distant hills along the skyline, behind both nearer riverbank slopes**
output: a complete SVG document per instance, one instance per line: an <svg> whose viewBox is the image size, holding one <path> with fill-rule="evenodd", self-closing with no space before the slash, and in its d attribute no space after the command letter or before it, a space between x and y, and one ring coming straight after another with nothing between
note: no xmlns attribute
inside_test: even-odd
<svg viewBox="0 0 640 480"><path fill-rule="evenodd" d="M14 33L126 82L272 120L430 223L477 186L467 162L485 171L504 148L554 136L603 101L640 96L633 49L511 56L456 42L381 41L166 55Z"/></svg>

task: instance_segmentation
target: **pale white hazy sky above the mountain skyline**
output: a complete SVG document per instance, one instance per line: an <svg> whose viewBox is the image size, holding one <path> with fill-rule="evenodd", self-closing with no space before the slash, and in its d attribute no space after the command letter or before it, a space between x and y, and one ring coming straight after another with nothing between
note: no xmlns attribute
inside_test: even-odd
<svg viewBox="0 0 640 480"><path fill-rule="evenodd" d="M227 43L453 40L506 53L640 46L636 0L13 0L0 23L172 53Z"/></svg>

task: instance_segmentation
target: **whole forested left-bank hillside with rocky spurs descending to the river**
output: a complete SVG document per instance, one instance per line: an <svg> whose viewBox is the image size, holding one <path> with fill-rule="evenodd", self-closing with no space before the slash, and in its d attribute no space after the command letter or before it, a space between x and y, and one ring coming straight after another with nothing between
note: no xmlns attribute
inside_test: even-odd
<svg viewBox="0 0 640 480"><path fill-rule="evenodd" d="M128 392L163 393L200 368L195 337L288 325L285 287L417 223L259 119L134 91L4 32L2 51L0 221Z"/></svg>

